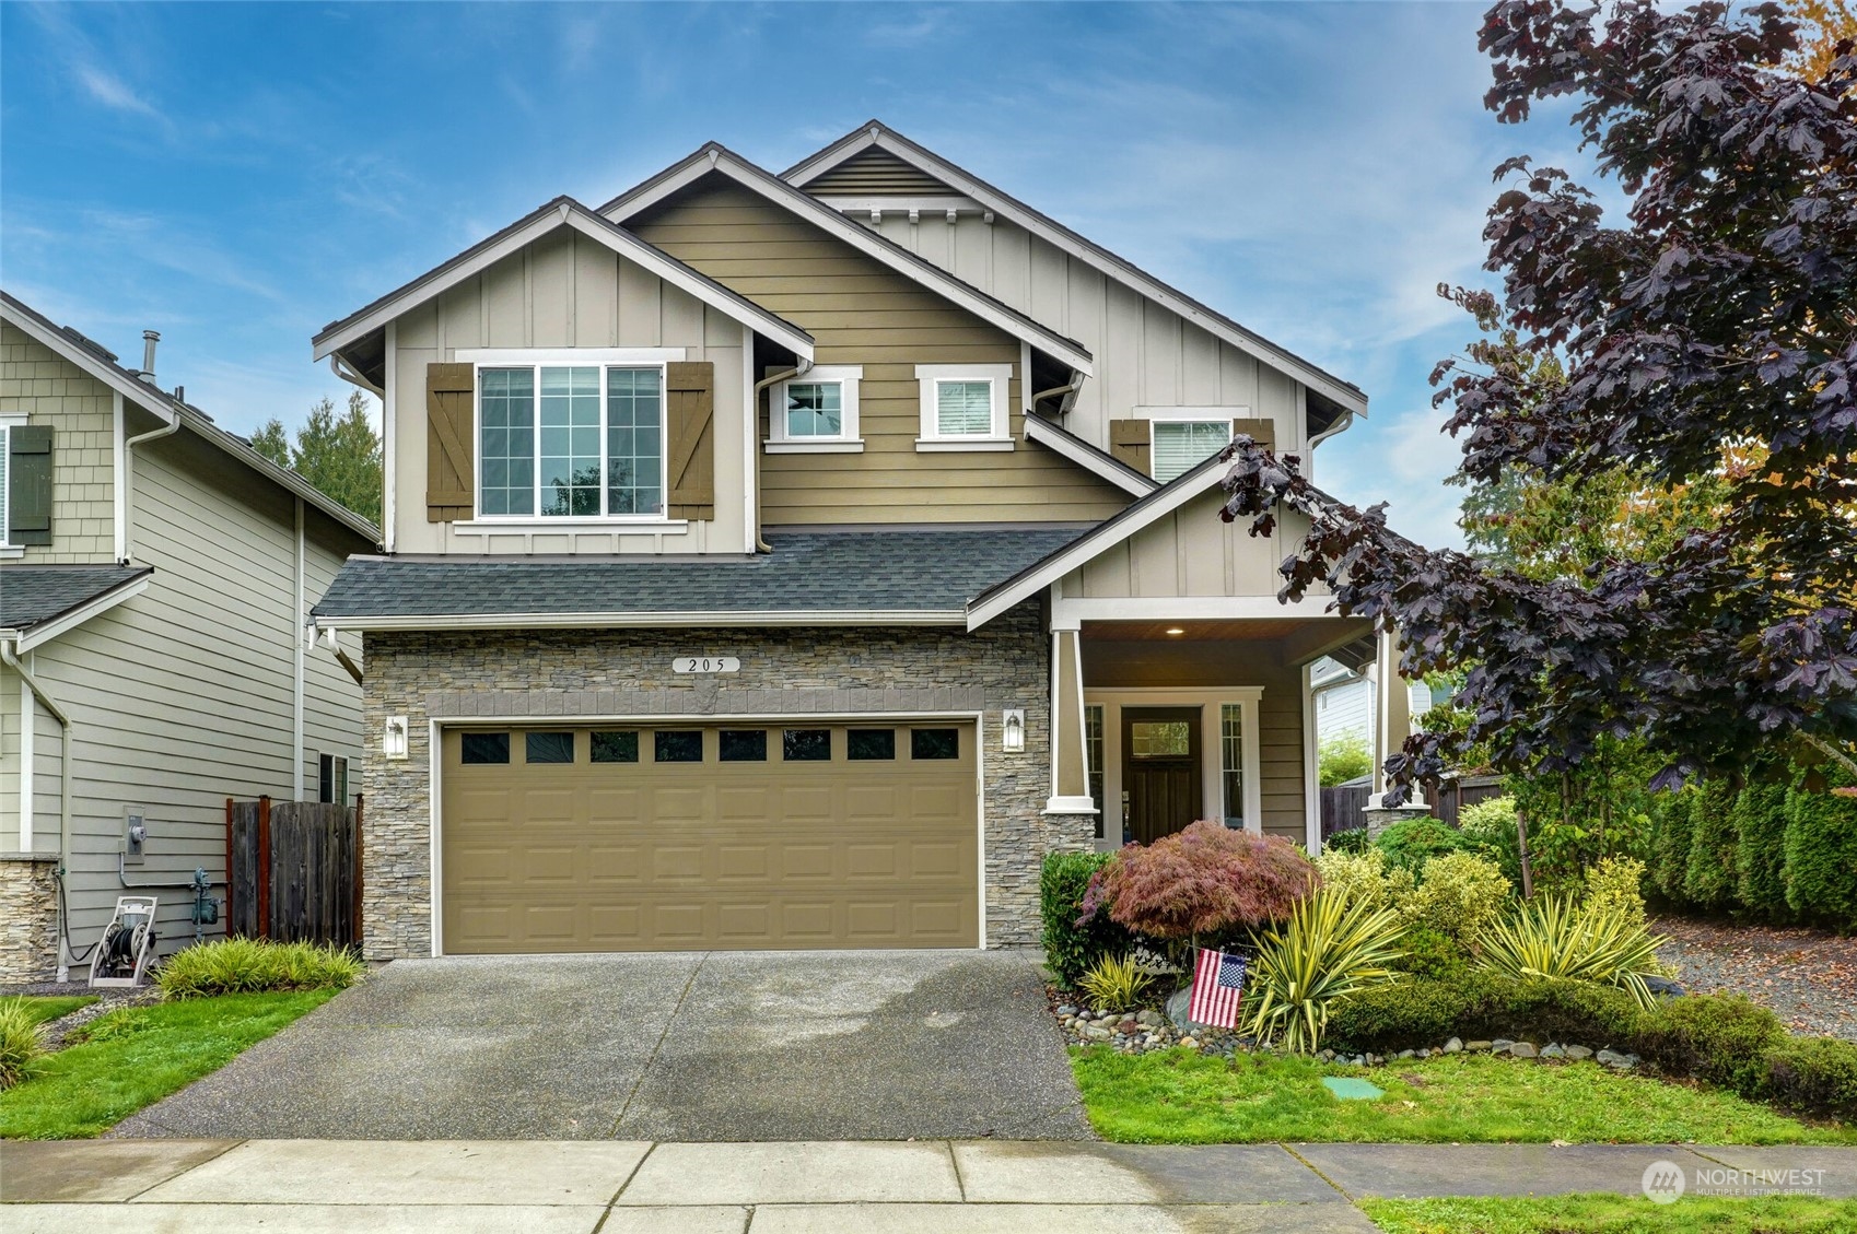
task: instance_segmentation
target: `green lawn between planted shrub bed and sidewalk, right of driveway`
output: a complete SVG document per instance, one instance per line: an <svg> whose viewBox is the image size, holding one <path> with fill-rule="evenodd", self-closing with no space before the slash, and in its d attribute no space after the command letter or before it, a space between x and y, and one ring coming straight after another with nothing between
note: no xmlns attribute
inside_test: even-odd
<svg viewBox="0 0 1857 1234"><path fill-rule="evenodd" d="M1614 1074L1597 1063L1543 1065L1452 1054L1391 1067L1192 1050L1073 1048L1090 1123L1123 1143L1857 1143L1857 1130L1809 1126L1712 1089ZM1385 1089L1337 1100L1324 1074Z"/></svg>

